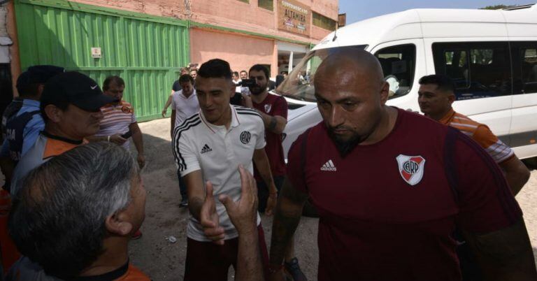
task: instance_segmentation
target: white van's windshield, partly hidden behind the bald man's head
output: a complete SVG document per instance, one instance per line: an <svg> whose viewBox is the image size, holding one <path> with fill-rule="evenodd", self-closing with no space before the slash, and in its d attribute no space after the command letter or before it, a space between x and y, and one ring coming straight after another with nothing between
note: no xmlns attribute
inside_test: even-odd
<svg viewBox="0 0 537 281"><path fill-rule="evenodd" d="M296 65L287 78L276 89L276 93L300 101L317 102L313 78L317 68L329 55L344 50L364 50L367 45L336 47L311 51Z"/></svg>

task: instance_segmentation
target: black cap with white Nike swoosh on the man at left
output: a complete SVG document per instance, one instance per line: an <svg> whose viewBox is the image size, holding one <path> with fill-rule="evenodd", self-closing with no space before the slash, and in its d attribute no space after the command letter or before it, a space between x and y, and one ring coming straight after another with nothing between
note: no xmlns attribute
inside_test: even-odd
<svg viewBox="0 0 537 281"><path fill-rule="evenodd" d="M117 102L117 99L103 94L92 78L80 72L69 71L48 80L41 94L41 108L62 102L96 112L107 103Z"/></svg>

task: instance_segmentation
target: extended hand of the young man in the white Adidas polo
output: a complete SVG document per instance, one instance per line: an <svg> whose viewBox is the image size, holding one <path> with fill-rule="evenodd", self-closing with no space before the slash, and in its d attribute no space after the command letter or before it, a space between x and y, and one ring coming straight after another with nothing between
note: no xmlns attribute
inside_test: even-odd
<svg viewBox="0 0 537 281"><path fill-rule="evenodd" d="M210 181L206 182L206 191L205 201L203 201L199 213L203 233L213 243L224 245L224 229L220 226L219 217L216 212L215 197L213 196L213 184Z"/></svg>

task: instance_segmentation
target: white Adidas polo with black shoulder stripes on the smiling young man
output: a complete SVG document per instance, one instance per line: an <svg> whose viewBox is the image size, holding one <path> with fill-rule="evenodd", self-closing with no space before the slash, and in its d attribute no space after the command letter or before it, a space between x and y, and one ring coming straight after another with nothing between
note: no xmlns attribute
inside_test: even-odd
<svg viewBox="0 0 537 281"><path fill-rule="evenodd" d="M265 147L265 128L262 117L255 110L241 106L231 106L231 125L215 126L207 122L200 111L187 118L173 131L173 155L181 176L201 170L203 182L213 183L216 211L220 226L225 230L225 239L232 239L238 233L231 224L224 205L218 200L220 194L227 194L234 201L241 198L241 175L238 165L253 173L254 150ZM257 215L257 224L261 222ZM198 220L190 216L187 226L188 238L210 241L203 234Z"/></svg>

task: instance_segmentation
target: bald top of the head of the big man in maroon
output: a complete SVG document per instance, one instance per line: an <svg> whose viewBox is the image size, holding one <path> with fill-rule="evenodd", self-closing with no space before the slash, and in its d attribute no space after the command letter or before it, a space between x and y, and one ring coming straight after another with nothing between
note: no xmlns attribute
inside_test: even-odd
<svg viewBox="0 0 537 281"><path fill-rule="evenodd" d="M380 85L384 81L380 62L364 50L343 50L322 61L315 73L314 83L315 87L323 82L337 87L357 80Z"/></svg>

